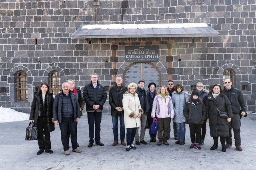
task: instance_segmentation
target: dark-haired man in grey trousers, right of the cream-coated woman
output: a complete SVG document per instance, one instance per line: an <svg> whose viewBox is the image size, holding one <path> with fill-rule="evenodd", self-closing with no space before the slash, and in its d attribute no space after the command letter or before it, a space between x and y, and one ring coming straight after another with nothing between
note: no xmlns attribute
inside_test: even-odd
<svg viewBox="0 0 256 170"><path fill-rule="evenodd" d="M143 80L140 80L138 82L138 88L136 90L136 93L138 94L138 97L140 99L140 106L143 109L144 113L142 113L140 117L140 137L139 137L139 128L137 128L136 135L135 135L135 144L140 145L140 143L147 145L146 141L144 141L144 136L146 132L146 123L148 118L148 110L150 108L148 103L148 95L146 90L144 89L145 82ZM150 113L151 114L151 113ZM140 140L140 141L139 141Z"/></svg>

